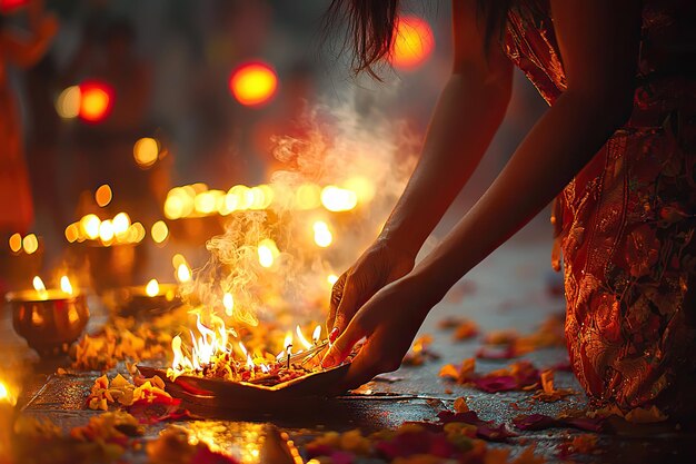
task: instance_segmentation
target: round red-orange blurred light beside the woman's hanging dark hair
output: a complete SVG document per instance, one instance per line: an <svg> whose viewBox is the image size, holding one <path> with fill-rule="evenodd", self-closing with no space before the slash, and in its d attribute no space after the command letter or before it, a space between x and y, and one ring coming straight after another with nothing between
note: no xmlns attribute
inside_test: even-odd
<svg viewBox="0 0 696 464"><path fill-rule="evenodd" d="M402 70L411 70L422 65L435 48L435 37L430 24L416 16L404 16L397 24L391 65Z"/></svg>

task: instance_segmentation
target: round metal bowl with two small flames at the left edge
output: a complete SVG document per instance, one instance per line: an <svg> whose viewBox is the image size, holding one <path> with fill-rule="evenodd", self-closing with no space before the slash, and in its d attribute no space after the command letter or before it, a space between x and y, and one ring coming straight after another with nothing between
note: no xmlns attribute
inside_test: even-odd
<svg viewBox="0 0 696 464"><path fill-rule="evenodd" d="M43 357L67 353L89 320L89 308L83 294L69 296L48 290L46 296L47 298L40 298L34 290L7 295L12 307L14 332Z"/></svg>

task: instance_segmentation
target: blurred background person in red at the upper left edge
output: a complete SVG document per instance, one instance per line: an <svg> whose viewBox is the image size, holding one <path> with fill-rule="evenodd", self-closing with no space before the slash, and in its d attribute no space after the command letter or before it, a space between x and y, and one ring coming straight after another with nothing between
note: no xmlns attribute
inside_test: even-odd
<svg viewBox="0 0 696 464"><path fill-rule="evenodd" d="M22 10L27 11L28 32L6 23L8 12ZM22 125L8 67L26 69L37 63L57 31L58 21L43 11L41 0L31 0L26 8L20 4L0 11L0 230L3 236L26 233L33 221Z"/></svg>

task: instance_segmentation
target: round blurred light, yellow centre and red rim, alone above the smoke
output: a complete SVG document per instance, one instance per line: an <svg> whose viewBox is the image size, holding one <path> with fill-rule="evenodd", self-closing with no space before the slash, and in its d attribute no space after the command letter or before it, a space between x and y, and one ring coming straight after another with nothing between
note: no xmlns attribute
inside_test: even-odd
<svg viewBox="0 0 696 464"><path fill-rule="evenodd" d="M256 107L267 103L276 95L278 77L264 62L245 63L232 71L229 86L237 101Z"/></svg>

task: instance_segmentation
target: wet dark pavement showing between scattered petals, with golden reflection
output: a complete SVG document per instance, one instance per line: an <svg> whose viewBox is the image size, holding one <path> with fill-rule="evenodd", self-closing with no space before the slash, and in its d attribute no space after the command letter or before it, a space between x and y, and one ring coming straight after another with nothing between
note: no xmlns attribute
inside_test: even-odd
<svg viewBox="0 0 696 464"><path fill-rule="evenodd" d="M520 412L555 416L566 408L584 407L586 398L583 394L556 403L539 403L531 399L529 392L488 394L438 377L443 365L458 365L463 359L475 356L481 343L480 337L454 342L451 330L437 327L444 317L469 317L476 320L483 334L503 328L516 328L524 334L531 333L549 315L563 312L563 298L549 292L560 277L549 270L546 234L548 229L539 224L527 228L474 269L429 315L421 334L434 337L431 351L439 358L421 366L402 366L386 379L368 384L360 395L314 401L311 404L288 404L284 411L259 414L199 409L193 413L207 419L187 422L186 427L242 463L257 463L262 462L260 450L266 436L265 424L268 423L287 432L301 448L301 444L311 436L329 430L361 428L370 432L395 427L407 421L431 421L438 412L451 408L455 398L464 396L479 417L505 423L518 434L507 444L493 445L511 446L513 455L534 443L537 453L548 462L696 462L696 433L667 427L633 427L619 434L601 435L594 453L574 454L571 458L561 460L559 446L579 432L561 428L520 432L511 425L511 419ZM99 318L93 318L92 324L99 322ZM36 355L28 352L23 342L11 333L7 308L2 324L0 349L14 353L16 362L36 363ZM544 368L565 362L567 354L564 348L556 347L533 352L521 358ZM477 372L485 373L508 363L478 361ZM53 367L37 365L34 372L38 374L26 377L24 414L49 417L66 430L84 424L88 417L98 414L84 409L84 398L100 374L42 375L53 372ZM580 392L573 375L566 372L556 373L556 385ZM150 426L147 436L156 436L161 428L162 425ZM130 454L128 458L132 462L146 460L143 453Z"/></svg>

